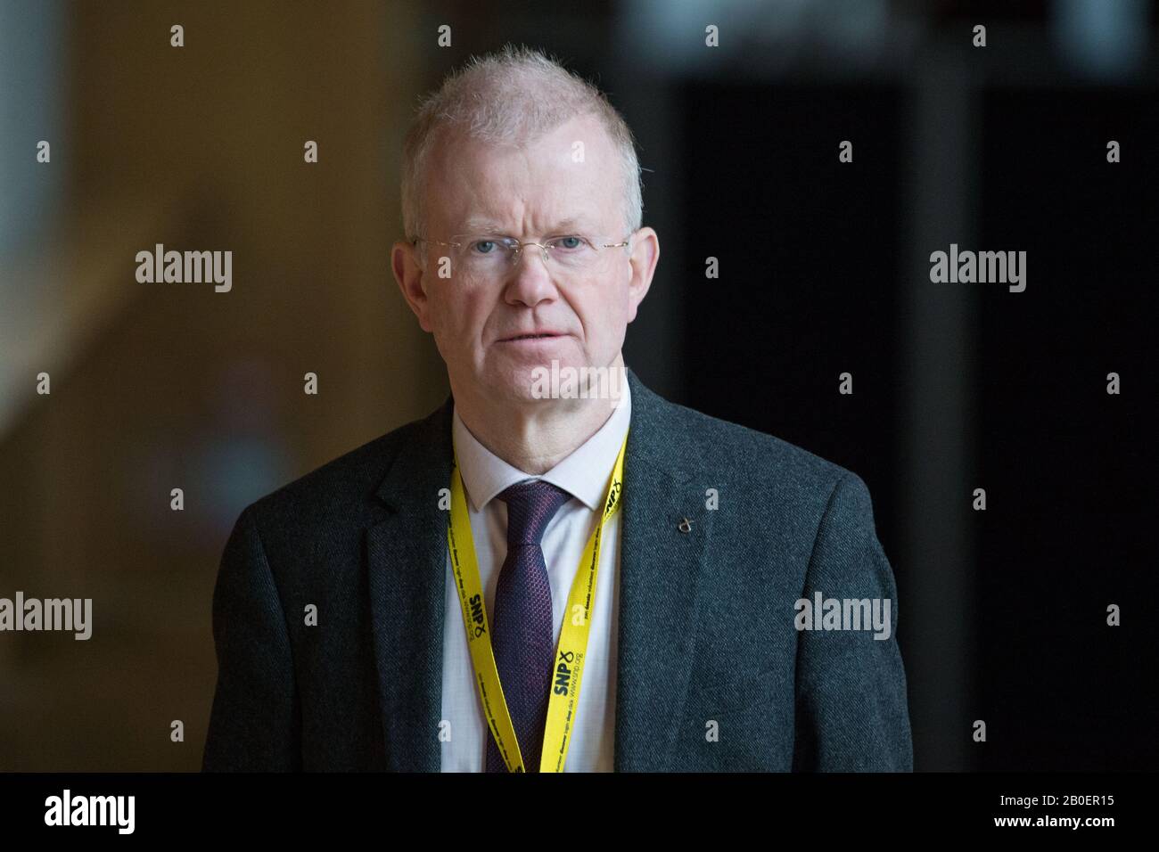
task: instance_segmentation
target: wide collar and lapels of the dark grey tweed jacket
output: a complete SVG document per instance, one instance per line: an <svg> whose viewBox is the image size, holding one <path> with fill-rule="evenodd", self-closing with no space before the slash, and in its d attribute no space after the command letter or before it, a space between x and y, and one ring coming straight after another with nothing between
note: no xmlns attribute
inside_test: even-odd
<svg viewBox="0 0 1159 852"><path fill-rule="evenodd" d="M697 599L709 534L695 436L678 406L627 369L617 643L617 771L669 763L688 691ZM453 399L411 423L377 495L388 517L366 533L374 657L387 766L438 772L446 515ZM681 522L691 529L681 531ZM684 525L687 526L687 525Z"/></svg>

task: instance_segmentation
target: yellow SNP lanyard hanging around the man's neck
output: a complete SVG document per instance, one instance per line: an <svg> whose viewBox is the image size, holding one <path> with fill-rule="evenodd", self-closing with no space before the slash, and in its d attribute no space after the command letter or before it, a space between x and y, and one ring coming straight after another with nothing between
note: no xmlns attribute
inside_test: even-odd
<svg viewBox="0 0 1159 852"><path fill-rule="evenodd" d="M544 730L544 750L539 760L540 772L562 772L568 759L568 747L575 730L578 714L580 684L583 679L584 656L588 653L588 633L591 613L596 605L596 577L599 574L599 546L604 537L604 525L620 508L624 493L624 451L628 436L624 436L620 453L604 496L604 516L592 530L583 558L571 582L567 613L560 629L560 643L555 654L555 680L547 704L547 727ZM510 772L524 772L523 756L516 741L515 727L503 698L495 654L491 650L490 625L483 604L483 587L479 578L479 562L475 561L475 545L471 537L471 519L459 473L459 459L454 458L451 472L451 517L446 525L447 548L451 553L451 569L454 571L455 588L459 590L459 606L462 624L467 629L467 646L475 669L475 685L483 706L487 726L503 756ZM564 614L567 614L564 613Z"/></svg>

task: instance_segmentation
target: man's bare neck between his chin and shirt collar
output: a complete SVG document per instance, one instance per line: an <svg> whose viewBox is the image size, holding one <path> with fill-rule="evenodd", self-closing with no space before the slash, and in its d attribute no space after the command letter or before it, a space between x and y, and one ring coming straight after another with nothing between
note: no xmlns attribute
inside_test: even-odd
<svg viewBox="0 0 1159 852"><path fill-rule="evenodd" d="M627 378L622 356L608 370L620 370L624 393ZM489 401L478 394L455 394L454 407L464 425L480 444L512 467L531 476L551 471L592 435L615 410L617 399L542 399L523 405Z"/></svg>

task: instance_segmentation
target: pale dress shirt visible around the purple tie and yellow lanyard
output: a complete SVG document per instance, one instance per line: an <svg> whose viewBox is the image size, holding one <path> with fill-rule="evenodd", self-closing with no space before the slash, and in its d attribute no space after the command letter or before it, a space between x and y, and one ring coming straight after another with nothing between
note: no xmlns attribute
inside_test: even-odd
<svg viewBox="0 0 1159 852"><path fill-rule="evenodd" d="M508 486L529 479L542 479L571 495L544 531L544 561L552 584L553 638L559 646L560 629L571 581L580 567L615 457L624 443L632 417L627 383L621 384L621 403L599 430L570 456L542 476L531 476L495 456L453 416L454 450L467 493L471 534L479 561L487 617L495 611L495 587L506 558L506 504L497 500ZM611 772L615 733L615 648L620 587L620 517L615 512L604 527L599 552L596 604L588 636L588 655L580 687L576 727L568 747L564 772ZM475 689L475 675L462 625L462 610L451 556L446 558L446 600L443 629L443 720L450 722L450 738L442 743L443 772L482 772L487 762L490 731Z"/></svg>

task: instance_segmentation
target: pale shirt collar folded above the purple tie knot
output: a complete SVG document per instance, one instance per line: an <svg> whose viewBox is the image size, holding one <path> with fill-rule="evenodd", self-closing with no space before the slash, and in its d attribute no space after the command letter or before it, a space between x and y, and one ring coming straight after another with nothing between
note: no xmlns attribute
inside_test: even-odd
<svg viewBox="0 0 1159 852"><path fill-rule="evenodd" d="M454 408L454 452L462 474L462 487L474 511L482 511L493 497L509 486L526 479L541 479L562 488L591 510L603 505L607 479L624 444L632 420L632 391L621 383L622 399L595 435L576 447L570 456L541 476L530 476L512 467L471 434Z"/></svg>

